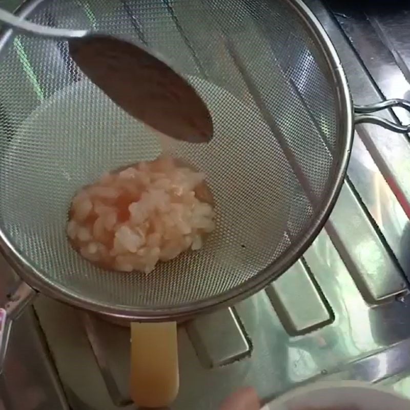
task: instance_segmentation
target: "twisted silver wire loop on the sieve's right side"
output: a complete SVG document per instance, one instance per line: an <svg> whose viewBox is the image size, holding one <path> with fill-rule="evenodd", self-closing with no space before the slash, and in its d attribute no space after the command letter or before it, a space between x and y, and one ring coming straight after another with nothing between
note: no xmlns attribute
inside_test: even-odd
<svg viewBox="0 0 410 410"><path fill-rule="evenodd" d="M379 125L389 131L398 132L401 134L410 132L410 124L399 125L393 121L389 121L388 119L381 118L377 115L372 115L372 113L374 112L394 107L404 108L405 110L410 112L410 102L406 101L405 99L399 98L388 99L385 101L380 101L380 103L369 104L366 106L355 105L355 124L363 124L364 122L367 122L368 124Z"/></svg>

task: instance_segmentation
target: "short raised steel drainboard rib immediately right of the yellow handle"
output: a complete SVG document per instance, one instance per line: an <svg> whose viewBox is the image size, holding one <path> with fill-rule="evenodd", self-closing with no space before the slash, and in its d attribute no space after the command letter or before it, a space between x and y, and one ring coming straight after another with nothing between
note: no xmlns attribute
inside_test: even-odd
<svg viewBox="0 0 410 410"><path fill-rule="evenodd" d="M223 366L251 354L251 346L234 309L198 317L187 325L187 332L205 367ZM223 340L229 343L221 343Z"/></svg>

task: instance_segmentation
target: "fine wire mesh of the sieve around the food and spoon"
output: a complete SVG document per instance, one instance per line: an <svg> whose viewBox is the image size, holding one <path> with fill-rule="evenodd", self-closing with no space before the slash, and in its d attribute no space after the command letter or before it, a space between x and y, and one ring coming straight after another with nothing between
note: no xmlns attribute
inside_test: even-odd
<svg viewBox="0 0 410 410"><path fill-rule="evenodd" d="M149 275L93 267L65 228L70 200L105 171L154 159L155 134L78 70L64 41L15 36L0 54L0 224L37 275L99 305L194 305L286 258L328 199L346 149L312 35L280 0L44 1L33 22L92 28L155 49L214 121L209 145L172 152L207 174L216 231ZM132 90L130 91L132 92Z"/></svg>

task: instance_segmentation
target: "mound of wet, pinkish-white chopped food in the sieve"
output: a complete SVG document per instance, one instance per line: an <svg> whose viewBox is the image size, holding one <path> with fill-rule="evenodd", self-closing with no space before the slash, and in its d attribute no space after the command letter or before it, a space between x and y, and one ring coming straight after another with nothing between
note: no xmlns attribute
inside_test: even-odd
<svg viewBox="0 0 410 410"><path fill-rule="evenodd" d="M105 269L151 272L215 229L205 175L170 157L105 174L73 198L67 235Z"/></svg>

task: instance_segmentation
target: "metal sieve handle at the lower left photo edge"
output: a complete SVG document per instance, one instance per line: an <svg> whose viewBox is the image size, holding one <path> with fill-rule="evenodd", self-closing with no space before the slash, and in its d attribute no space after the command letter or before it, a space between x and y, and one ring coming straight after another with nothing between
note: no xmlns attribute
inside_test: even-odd
<svg viewBox="0 0 410 410"><path fill-rule="evenodd" d="M8 297L9 301L4 308L0 308L0 374L3 373L13 321L20 316L36 294L37 292L27 283L20 282L17 289Z"/></svg>

